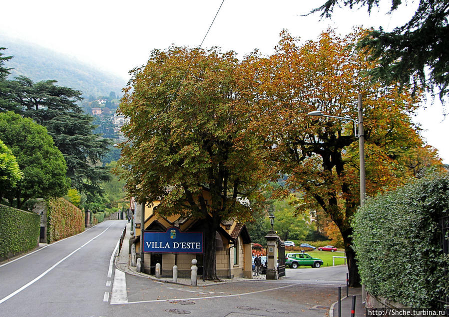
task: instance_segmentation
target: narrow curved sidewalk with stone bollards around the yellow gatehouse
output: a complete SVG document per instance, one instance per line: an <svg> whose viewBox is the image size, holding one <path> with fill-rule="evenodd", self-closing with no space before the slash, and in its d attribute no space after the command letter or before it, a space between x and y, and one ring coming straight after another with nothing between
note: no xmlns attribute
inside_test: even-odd
<svg viewBox="0 0 449 317"><path fill-rule="evenodd" d="M145 278L149 278L149 279L152 279L155 281L160 281L160 282L165 282L165 283L175 283L175 282L173 282L171 277L156 278L153 275L148 275L145 273L137 272L136 266L131 266L131 254L129 254L129 239L131 238L130 231L131 231L131 224L128 222L126 224L126 234L123 239L123 244L122 244L120 253L115 256L115 267L125 273L132 274L135 276L145 277ZM232 279L220 278L220 280L221 281L212 281L212 280L203 281L199 277L197 280L197 285L198 286L207 286L207 285L216 285L217 283L221 284L224 282L229 283L229 282L236 282L236 281L241 281L241 280L248 281L248 278L241 278L241 277L235 277ZM190 286L190 278L178 277L178 281L175 284Z"/></svg>

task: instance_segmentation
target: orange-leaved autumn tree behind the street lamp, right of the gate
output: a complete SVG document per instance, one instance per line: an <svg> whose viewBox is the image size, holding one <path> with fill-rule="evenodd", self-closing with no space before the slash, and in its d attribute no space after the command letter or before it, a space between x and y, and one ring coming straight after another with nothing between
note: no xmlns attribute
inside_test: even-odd
<svg viewBox="0 0 449 317"><path fill-rule="evenodd" d="M307 113L319 109L357 118L362 93L368 195L405 181L413 174L408 163L415 159L418 165L438 163L410 118L419 95L405 88L398 94L397 85L372 83L365 76L377 64L355 49L361 35L339 37L328 31L299 45L284 31L273 55L248 56L245 81L246 97L253 101L252 129L279 172L289 175L287 194L304 193L297 210L321 209L339 228L352 286L360 283L350 223L360 204L358 139L353 123Z"/></svg>

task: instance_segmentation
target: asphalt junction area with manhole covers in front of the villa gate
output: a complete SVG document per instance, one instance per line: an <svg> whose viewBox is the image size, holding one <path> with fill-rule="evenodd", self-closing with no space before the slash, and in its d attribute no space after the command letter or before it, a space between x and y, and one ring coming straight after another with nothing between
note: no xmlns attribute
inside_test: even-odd
<svg viewBox="0 0 449 317"><path fill-rule="evenodd" d="M191 287L123 273L108 316L325 316L345 285L346 266L287 269L276 281L243 280ZM117 276L117 275L116 275ZM329 276L326 277L326 276Z"/></svg>

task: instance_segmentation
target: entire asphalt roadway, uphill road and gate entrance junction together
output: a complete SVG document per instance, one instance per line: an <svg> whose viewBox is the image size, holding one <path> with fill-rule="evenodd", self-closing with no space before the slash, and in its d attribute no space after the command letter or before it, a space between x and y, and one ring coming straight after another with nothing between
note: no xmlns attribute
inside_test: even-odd
<svg viewBox="0 0 449 317"><path fill-rule="evenodd" d="M104 221L0 264L0 316L325 316L346 266L287 269L281 280L191 287L112 264L124 220Z"/></svg>

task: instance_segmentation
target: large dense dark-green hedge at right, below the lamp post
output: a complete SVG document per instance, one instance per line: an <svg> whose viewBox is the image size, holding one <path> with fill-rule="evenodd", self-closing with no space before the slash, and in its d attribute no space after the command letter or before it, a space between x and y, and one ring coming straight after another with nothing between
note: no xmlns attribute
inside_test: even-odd
<svg viewBox="0 0 449 317"><path fill-rule="evenodd" d="M367 291L410 307L437 307L441 294L449 295L439 224L447 215L448 174L428 174L368 199L352 222Z"/></svg>

